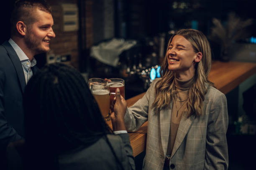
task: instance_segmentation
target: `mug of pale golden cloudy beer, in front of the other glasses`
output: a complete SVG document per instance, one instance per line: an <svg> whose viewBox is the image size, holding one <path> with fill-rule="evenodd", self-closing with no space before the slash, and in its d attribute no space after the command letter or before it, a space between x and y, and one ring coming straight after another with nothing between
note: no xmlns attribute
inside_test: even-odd
<svg viewBox="0 0 256 170"><path fill-rule="evenodd" d="M92 84L91 85L92 94L97 101L97 104L100 108L100 112L104 117L105 121L110 120L109 115L109 103L110 103L110 91L109 87L102 84Z"/></svg>

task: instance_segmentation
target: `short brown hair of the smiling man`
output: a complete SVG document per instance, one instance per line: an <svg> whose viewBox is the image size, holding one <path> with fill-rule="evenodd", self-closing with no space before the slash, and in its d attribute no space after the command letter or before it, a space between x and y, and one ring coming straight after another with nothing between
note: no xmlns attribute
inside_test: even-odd
<svg viewBox="0 0 256 170"><path fill-rule="evenodd" d="M15 2L11 18L11 35L16 33L16 24L22 21L26 25L33 24L36 21L33 10L39 9L51 13L51 7L45 0L17 0Z"/></svg>

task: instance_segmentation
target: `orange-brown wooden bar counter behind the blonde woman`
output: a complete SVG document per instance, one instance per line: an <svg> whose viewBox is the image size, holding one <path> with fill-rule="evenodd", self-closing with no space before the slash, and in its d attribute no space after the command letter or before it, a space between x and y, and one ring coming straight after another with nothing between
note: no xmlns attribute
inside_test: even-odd
<svg viewBox="0 0 256 170"><path fill-rule="evenodd" d="M213 61L208 79L215 84L217 89L227 94L253 74L256 74L256 63ZM138 99L141 99L144 94L128 99L128 107L136 103ZM146 148L147 128L148 122L145 122L138 131L129 132L134 157Z"/></svg>

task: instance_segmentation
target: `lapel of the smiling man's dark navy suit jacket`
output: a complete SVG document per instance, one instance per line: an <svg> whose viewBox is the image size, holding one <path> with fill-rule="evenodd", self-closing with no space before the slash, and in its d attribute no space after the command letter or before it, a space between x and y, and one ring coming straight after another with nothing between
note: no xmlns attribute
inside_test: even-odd
<svg viewBox="0 0 256 170"><path fill-rule="evenodd" d="M20 63L20 59L17 56L16 52L14 51L13 47L10 45L10 43L8 43L8 41L5 41L3 43L3 46L5 47L6 51L8 51L8 55L9 55L11 61L13 62L13 66L16 70L17 75L18 75L22 92L24 92L25 86L26 86L26 80L25 80L22 65Z"/></svg>

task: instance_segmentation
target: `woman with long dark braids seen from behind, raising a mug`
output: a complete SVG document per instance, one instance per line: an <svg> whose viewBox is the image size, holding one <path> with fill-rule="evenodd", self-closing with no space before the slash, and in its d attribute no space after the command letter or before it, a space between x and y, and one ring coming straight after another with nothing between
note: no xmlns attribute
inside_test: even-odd
<svg viewBox="0 0 256 170"><path fill-rule="evenodd" d="M118 113L120 92L116 94ZM129 135L113 134L84 78L72 67L46 65L28 82L24 106L26 169L135 169ZM124 123L112 118L118 124L113 130L124 130Z"/></svg>

